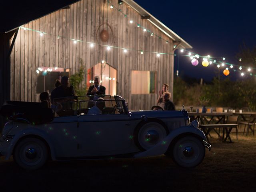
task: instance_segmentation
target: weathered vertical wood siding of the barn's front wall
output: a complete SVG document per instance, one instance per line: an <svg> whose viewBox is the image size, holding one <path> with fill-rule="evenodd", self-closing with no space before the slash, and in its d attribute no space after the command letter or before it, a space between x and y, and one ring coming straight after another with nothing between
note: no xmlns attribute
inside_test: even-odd
<svg viewBox="0 0 256 192"><path fill-rule="evenodd" d="M112 4L118 6L118 1ZM154 52L172 51L172 41L168 44L159 40L150 33L137 28L141 24L154 34L168 37L153 26L126 4L119 6L128 18L116 9L110 9L105 0L81 0L70 5L70 9L61 9L47 16L25 24L24 27L46 32L52 35L39 33L20 28L14 49L11 54L11 99L20 101L38 101L36 94L36 68L39 66L71 68L74 74L79 67L79 58L88 69L101 60L106 60L118 70L117 93L123 96L132 109L149 109L156 104L157 94L131 94L131 70L150 70L157 72L156 93L163 83L173 85L173 55L161 55L139 51L128 51L99 45L90 48L89 44L77 42L73 38L86 42L97 42L98 28L106 28L110 33L112 42L99 42L111 46L147 50ZM130 19L134 21L130 24ZM108 23L108 26L106 25ZM104 24L104 25L103 25ZM102 26L103 25L103 26ZM113 33L112 33L112 32ZM57 36L66 38L58 39ZM86 74L85 74L86 77ZM54 82L53 82L54 83ZM139 83L139 82L138 82ZM85 85L85 84L84 84Z"/></svg>

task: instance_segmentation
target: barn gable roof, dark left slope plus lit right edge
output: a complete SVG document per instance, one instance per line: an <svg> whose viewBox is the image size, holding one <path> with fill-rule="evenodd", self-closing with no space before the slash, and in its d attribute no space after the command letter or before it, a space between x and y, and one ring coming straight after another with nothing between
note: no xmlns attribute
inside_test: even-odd
<svg viewBox="0 0 256 192"><path fill-rule="evenodd" d="M42 16L50 14L56 10L62 9L70 4L78 2L79 0L44 0L43 2L26 0L26 1L15 1L15 4L10 2L1 2L0 7L4 8L0 12L0 18L2 24L0 25L0 32L8 32L14 30L23 24L26 24L32 20L38 19ZM170 30L162 22L152 16L144 8L139 6L133 0L123 0L124 3L128 4L132 9L138 12L143 17L148 17L147 20L152 23L156 28L162 31L166 36L179 43L180 48L192 48L185 40L178 36L175 32Z"/></svg>

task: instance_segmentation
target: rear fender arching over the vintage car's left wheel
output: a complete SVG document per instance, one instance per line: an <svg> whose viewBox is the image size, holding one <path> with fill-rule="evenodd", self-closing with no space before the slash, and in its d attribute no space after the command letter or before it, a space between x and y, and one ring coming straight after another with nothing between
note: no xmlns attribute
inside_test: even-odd
<svg viewBox="0 0 256 192"><path fill-rule="evenodd" d="M54 152L54 146L52 145L50 137L43 130L35 129L35 128L27 128L27 129L24 129L24 130L20 130L20 132L15 134L14 138L12 140L10 140L11 143L10 143L8 149L7 149L6 158L5 158L6 160L8 160L10 158L10 156L12 155L12 151L14 149L14 146L20 140L20 138L28 136L28 135L38 136L38 137L44 139L47 142L48 146L50 147L50 153L51 153L51 156L52 156L52 160L56 160L56 156L55 156L55 152Z"/></svg>

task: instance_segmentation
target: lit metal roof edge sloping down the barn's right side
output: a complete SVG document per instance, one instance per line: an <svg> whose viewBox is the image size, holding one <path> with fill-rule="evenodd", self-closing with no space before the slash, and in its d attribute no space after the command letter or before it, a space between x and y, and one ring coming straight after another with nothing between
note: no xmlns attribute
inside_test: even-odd
<svg viewBox="0 0 256 192"><path fill-rule="evenodd" d="M173 32L170 28L168 28L166 25L164 25L162 22L160 22L157 18L155 18L152 14L147 12L144 8L142 8L140 5L138 5L133 0L122 0L124 3L126 3L128 6L133 8L136 12L138 12L141 16L150 16L149 19L147 19L149 22L151 22L154 26L156 26L160 31L162 31L165 35L167 35L172 40L175 40L177 42L180 42L180 45L182 48L192 49L192 46L188 44L184 39L182 39L180 36L178 36L175 32Z"/></svg>

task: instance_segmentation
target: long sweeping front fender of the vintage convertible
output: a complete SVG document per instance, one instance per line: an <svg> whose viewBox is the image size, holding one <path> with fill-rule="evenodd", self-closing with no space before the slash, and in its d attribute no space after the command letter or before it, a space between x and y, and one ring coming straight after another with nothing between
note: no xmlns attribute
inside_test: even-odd
<svg viewBox="0 0 256 192"><path fill-rule="evenodd" d="M202 140L206 140L206 137L204 135L204 132L202 132L200 129L195 128L194 126L182 126L180 128L177 128L170 132L168 136L166 136L161 142L156 144L154 147L144 151L140 152L134 155L135 158L140 157L147 157L147 156L157 156L164 154L168 147L170 146L170 143L172 140L174 140L176 137L182 135L182 134L195 134L202 138Z"/></svg>

